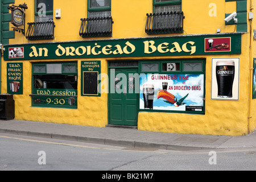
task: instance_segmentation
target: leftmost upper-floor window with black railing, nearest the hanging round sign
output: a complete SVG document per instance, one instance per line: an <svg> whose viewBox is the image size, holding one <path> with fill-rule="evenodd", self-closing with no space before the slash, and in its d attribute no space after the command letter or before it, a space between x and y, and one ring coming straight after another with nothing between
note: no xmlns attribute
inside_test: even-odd
<svg viewBox="0 0 256 182"><path fill-rule="evenodd" d="M35 0L35 22L28 23L28 40L54 39L53 0Z"/></svg>

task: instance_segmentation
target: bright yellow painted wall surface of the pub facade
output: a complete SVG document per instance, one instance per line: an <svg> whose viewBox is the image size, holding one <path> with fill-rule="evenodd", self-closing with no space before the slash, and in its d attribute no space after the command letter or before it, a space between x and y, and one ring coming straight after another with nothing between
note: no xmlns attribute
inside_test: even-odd
<svg viewBox="0 0 256 182"><path fill-rule="evenodd" d="M16 0L16 5L24 3ZM26 1L26 22L34 22L34 0ZM81 38L79 36L80 18L87 16L87 2L54 0L53 21L55 22L55 39L28 41L24 36L15 32L15 39L10 39L10 44L42 43L42 42L67 42L76 40L98 40L109 38ZM248 1L248 7L250 1ZM216 8L214 8L216 7ZM193 34L215 34L217 28L221 33L233 32L235 26L225 26L225 13L236 11L236 3L224 0L183 0L184 33L147 35L144 31L147 13L152 13L152 0L112 0L113 36L110 39L142 38L150 36L174 36ZM213 9L214 8L214 9ZM61 19L55 19L55 9L61 9ZM213 10L213 11L212 11ZM215 11L216 10L216 11ZM254 10L255 11L255 10ZM256 15L256 14L255 14ZM255 21L254 21L255 22ZM255 23L254 27L255 27ZM27 28L27 26L26 26ZM248 29L250 30L249 26ZM150 113L139 112L138 130L159 131L166 133L187 134L213 134L213 135L244 135L248 133L249 96L250 96L250 34L242 35L241 55L209 55L209 56L168 56L164 59L206 59L205 72L205 114L180 114L180 113ZM253 43L255 48L256 44ZM255 51L254 51L255 52ZM253 53L256 57L256 53ZM214 57L240 57L240 94L239 101L218 101L210 99L212 58ZM23 63L23 95L14 95L15 119L30 121L68 123L72 125L86 125L105 127L108 124L108 94L101 97L81 96L81 61L101 60L101 73L108 73L109 60L144 60L163 59L163 57L127 57L115 59L66 59L66 60L41 60L41 61L77 61L78 68L78 104L77 109L60 109L46 107L31 107L31 70L33 61ZM6 63L2 59L2 93L6 88ZM16 61L20 62L20 61ZM36 61L38 62L38 60ZM256 100L251 101L255 110ZM256 114L252 113L251 130L256 126Z"/></svg>

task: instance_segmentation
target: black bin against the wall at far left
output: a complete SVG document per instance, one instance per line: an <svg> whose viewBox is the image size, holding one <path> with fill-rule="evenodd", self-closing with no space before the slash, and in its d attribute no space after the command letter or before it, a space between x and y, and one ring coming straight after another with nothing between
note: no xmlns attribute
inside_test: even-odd
<svg viewBox="0 0 256 182"><path fill-rule="evenodd" d="M11 94L0 94L0 119L14 119L14 100Z"/></svg>

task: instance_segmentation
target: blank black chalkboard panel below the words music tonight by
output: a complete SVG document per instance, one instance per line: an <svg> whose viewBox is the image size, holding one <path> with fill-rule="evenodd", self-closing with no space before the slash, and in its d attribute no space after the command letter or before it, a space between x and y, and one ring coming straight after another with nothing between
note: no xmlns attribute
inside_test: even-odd
<svg viewBox="0 0 256 182"><path fill-rule="evenodd" d="M98 72L83 72L83 94L98 94Z"/></svg>

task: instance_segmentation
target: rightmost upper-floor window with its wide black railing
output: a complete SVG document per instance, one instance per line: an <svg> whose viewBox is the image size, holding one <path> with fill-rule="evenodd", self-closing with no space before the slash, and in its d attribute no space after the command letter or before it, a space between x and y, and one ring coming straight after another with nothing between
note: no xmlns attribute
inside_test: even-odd
<svg viewBox="0 0 256 182"><path fill-rule="evenodd" d="M154 13L147 14L147 34L183 32L181 0L154 0L153 8Z"/></svg>

